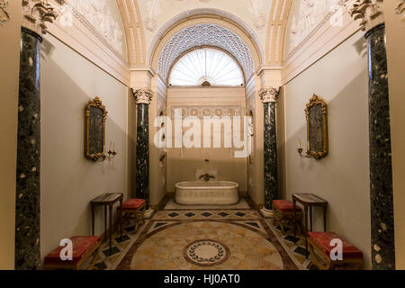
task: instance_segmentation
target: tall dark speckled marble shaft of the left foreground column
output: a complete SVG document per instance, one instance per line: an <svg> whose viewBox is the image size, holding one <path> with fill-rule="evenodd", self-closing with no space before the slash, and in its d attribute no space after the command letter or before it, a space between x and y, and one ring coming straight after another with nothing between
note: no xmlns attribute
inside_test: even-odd
<svg viewBox="0 0 405 288"><path fill-rule="evenodd" d="M15 198L15 269L40 268L40 36L22 28Z"/></svg>

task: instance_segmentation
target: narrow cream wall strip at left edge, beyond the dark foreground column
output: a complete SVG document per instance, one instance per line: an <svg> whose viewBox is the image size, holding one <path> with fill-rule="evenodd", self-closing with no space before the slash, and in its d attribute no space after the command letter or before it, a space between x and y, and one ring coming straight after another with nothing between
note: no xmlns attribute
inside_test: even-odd
<svg viewBox="0 0 405 288"><path fill-rule="evenodd" d="M0 270L14 269L15 169L17 157L18 85L22 2L10 1L11 21L0 27ZM6 40L5 40L6 39Z"/></svg>

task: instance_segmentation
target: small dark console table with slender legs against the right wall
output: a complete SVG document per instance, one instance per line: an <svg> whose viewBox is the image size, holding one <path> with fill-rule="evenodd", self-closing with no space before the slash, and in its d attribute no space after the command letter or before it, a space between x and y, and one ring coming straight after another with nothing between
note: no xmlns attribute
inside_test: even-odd
<svg viewBox="0 0 405 288"><path fill-rule="evenodd" d="M297 193L293 194L293 220L294 220L294 237L296 236L296 216L295 216L295 203L299 202L302 204L304 208L304 233L305 233L305 256L308 258L308 211L310 211L310 221L311 221L311 231L312 231L312 207L322 207L323 211L323 229L326 232L326 225L327 225L327 209L328 209L328 202L321 199L317 195L311 193Z"/></svg>

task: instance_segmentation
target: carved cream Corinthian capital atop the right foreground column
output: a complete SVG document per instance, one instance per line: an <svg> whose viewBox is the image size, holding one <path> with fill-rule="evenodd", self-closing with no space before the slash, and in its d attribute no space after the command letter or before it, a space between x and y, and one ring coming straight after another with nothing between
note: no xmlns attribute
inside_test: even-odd
<svg viewBox="0 0 405 288"><path fill-rule="evenodd" d="M355 19L361 19L363 31L369 31L384 22L383 0L347 0L348 13Z"/></svg>

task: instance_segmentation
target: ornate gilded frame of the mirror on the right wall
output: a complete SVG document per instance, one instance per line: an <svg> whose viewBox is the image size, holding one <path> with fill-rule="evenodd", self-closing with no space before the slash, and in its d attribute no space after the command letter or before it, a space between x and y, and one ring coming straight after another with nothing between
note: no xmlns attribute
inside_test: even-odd
<svg viewBox="0 0 405 288"><path fill-rule="evenodd" d="M322 140L323 140L323 148L322 151L314 151L311 148L311 122L310 122L310 112L311 112L311 107L320 105L322 109ZM326 157L329 152L329 138L328 138L328 103L326 103L322 98L320 98L318 95L313 94L310 103L307 103L307 106L305 108L305 115L307 119L307 148L308 152L307 154L310 155L311 157L314 157L316 159L321 159L323 157Z"/></svg>

